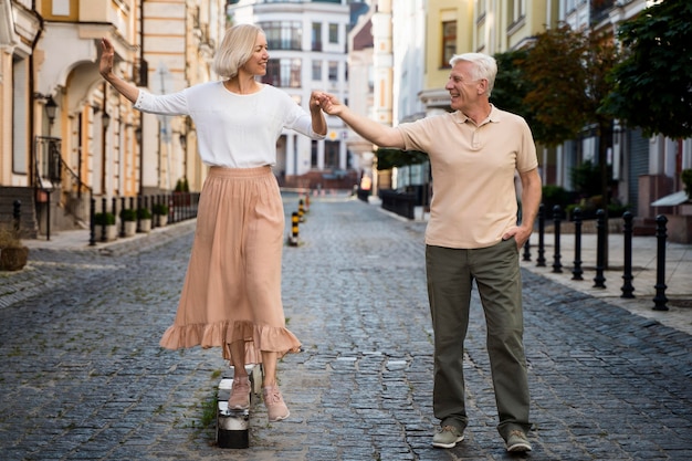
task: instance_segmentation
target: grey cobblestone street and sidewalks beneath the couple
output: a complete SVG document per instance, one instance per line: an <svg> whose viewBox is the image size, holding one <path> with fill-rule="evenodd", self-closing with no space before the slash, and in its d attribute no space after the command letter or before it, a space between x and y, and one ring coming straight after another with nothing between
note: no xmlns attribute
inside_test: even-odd
<svg viewBox="0 0 692 461"><path fill-rule="evenodd" d="M286 197L287 218L296 202ZM547 266L536 268L532 250L533 261L522 263L535 425L527 455L507 454L495 430L474 295L466 440L440 450L430 446L437 421L424 222L345 197L313 199L302 244L284 249L284 308L304 348L279 366L291 418L270 425L263 405L253 402L251 447L224 450L209 416L227 367L220 350L158 346L175 315L192 230L193 222L179 223L96 248L84 232L63 232L31 242L25 270L0 273L3 460L692 457L692 310L683 302L692 290L689 276L677 276L690 274L689 245L668 247L675 262L667 294L683 307L653 316L652 239L637 247L635 300L619 297L617 271L606 273L607 289L590 289L586 243L580 282L567 269L553 274L549 251ZM567 265L570 239L563 237Z"/></svg>

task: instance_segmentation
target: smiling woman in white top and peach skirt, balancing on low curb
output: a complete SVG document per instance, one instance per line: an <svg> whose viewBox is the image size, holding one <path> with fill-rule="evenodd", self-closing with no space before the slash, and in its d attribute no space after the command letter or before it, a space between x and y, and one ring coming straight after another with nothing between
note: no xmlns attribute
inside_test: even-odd
<svg viewBox="0 0 692 461"><path fill-rule="evenodd" d="M310 112L286 93L258 82L266 73L266 36L252 24L230 28L213 62L218 82L153 95L113 73L114 49L103 39L101 75L134 107L188 115L199 155L210 166L178 312L160 344L169 349L221 347L234 368L229 408L250 406L245 364L262 364L269 420L289 417L276 362L300 350L281 300L284 210L272 165L284 128L322 139L326 122L313 94Z"/></svg>

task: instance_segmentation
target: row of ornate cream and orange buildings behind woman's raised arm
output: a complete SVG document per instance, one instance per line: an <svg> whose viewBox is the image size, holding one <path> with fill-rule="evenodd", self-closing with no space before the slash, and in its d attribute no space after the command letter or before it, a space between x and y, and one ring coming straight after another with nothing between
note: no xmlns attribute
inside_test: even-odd
<svg viewBox="0 0 692 461"><path fill-rule="evenodd" d="M193 126L140 114L108 87L98 73L101 39L113 42L125 80L177 91L212 77L224 3L2 0L0 196L20 195L24 212L38 201L43 232L86 226L91 198L162 193L180 178L199 190Z"/></svg>

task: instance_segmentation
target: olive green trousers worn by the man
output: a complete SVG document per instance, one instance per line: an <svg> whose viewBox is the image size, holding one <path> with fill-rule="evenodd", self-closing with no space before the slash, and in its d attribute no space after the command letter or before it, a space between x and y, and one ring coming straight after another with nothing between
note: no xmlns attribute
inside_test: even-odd
<svg viewBox="0 0 692 461"><path fill-rule="evenodd" d="M530 396L516 241L510 239L473 250L428 245L426 270L434 333L436 418L441 426L461 430L469 422L463 357L475 281L485 314L486 346L500 419L497 431L505 440L513 430L527 432Z"/></svg>

